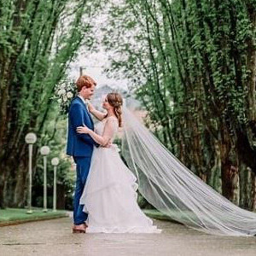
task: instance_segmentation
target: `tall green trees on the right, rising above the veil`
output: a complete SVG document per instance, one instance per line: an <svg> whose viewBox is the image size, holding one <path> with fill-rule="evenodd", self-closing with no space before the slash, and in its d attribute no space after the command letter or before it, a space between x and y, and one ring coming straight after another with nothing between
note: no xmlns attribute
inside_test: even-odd
<svg viewBox="0 0 256 256"><path fill-rule="evenodd" d="M256 2L126 0L109 15L109 71L131 79L156 136L214 189L255 207Z"/></svg>

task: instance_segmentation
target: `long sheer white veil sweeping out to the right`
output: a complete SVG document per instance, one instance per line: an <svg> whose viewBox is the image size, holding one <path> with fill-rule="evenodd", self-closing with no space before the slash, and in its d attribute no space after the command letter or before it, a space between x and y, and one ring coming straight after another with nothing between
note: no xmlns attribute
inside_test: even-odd
<svg viewBox="0 0 256 256"><path fill-rule="evenodd" d="M139 191L179 223L222 236L254 236L256 213L236 207L177 160L128 108L123 108L122 154Z"/></svg>

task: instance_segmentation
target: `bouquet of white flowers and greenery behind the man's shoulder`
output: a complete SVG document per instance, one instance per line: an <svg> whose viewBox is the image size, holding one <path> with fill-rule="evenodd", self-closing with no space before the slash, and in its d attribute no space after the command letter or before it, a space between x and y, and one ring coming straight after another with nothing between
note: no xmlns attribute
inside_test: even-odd
<svg viewBox="0 0 256 256"><path fill-rule="evenodd" d="M59 84L56 84L53 99L58 102L61 114L68 113L70 102L76 94L77 88L73 80L62 79Z"/></svg>

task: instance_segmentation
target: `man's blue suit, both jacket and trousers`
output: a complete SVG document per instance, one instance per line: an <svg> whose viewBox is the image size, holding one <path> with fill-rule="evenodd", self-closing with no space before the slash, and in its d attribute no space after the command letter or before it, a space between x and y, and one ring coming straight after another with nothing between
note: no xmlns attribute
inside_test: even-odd
<svg viewBox="0 0 256 256"><path fill-rule="evenodd" d="M94 130L93 120L81 98L75 97L70 104L68 113L67 131L67 154L73 156L77 164L76 189L73 199L73 221L74 224L84 224L88 214L83 212L83 205L79 205L80 197L83 194L86 178L90 171L90 160L93 145L97 145L88 134L79 134L76 131L78 126L86 125Z"/></svg>

